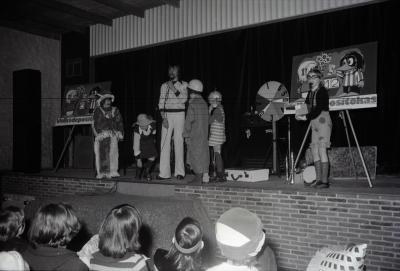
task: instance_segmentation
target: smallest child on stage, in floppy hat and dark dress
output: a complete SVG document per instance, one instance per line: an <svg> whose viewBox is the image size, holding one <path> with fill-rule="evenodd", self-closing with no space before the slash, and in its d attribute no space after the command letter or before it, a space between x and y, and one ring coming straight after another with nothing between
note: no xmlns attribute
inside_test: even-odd
<svg viewBox="0 0 400 271"><path fill-rule="evenodd" d="M151 172L157 157L156 123L146 114L139 114L133 124L133 151L136 158L136 178L151 181ZM143 161L146 160L146 161ZM144 162L144 163L143 163Z"/></svg>

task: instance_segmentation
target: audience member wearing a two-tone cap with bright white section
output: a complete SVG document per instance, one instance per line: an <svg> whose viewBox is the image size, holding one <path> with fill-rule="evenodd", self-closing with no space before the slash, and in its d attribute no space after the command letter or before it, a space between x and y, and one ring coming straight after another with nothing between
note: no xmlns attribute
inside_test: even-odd
<svg viewBox="0 0 400 271"><path fill-rule="evenodd" d="M229 209L218 218L215 237L226 261L207 271L277 270L275 256L266 245L263 225L256 214L240 207Z"/></svg>

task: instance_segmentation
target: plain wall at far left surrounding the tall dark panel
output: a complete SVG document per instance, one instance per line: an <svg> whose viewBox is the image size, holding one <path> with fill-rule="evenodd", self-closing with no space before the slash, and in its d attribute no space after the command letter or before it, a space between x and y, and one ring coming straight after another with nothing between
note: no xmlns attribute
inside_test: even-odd
<svg viewBox="0 0 400 271"><path fill-rule="evenodd" d="M41 164L42 168L50 168L53 163L52 126L60 114L61 43L57 40L0 27L0 170L12 169L12 73L21 69L41 71Z"/></svg>

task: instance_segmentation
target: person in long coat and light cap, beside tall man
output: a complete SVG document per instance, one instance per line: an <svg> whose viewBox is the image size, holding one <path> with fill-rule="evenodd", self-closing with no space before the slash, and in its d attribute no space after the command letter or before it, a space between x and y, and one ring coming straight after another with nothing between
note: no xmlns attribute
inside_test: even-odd
<svg viewBox="0 0 400 271"><path fill-rule="evenodd" d="M187 145L187 163L195 173L194 182L209 182L208 105L203 99L203 83L193 79L187 87L190 99L183 137Z"/></svg>

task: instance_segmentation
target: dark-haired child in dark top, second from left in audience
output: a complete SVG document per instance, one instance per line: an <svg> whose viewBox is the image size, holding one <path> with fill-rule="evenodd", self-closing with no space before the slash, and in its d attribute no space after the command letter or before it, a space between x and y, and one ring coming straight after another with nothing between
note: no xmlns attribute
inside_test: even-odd
<svg viewBox="0 0 400 271"><path fill-rule="evenodd" d="M22 256L32 270L88 270L76 253L66 248L80 227L70 205L59 203L42 206L28 231L32 247L25 250Z"/></svg>

